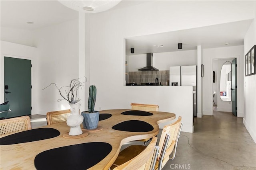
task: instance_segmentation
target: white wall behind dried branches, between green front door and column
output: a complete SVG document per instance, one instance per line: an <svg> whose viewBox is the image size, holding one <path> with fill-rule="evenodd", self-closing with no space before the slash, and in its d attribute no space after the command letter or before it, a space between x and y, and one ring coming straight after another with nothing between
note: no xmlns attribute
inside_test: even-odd
<svg viewBox="0 0 256 170"><path fill-rule="evenodd" d="M54 85L42 90L50 83L68 86L78 76L78 20L71 20L35 31L38 47L38 114L69 109ZM82 79L84 81L84 79ZM83 101L84 102L84 99Z"/></svg>

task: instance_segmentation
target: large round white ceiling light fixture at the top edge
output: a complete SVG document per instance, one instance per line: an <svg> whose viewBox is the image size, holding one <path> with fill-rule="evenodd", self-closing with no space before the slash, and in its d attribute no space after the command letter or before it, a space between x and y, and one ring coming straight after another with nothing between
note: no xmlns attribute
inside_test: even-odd
<svg viewBox="0 0 256 170"><path fill-rule="evenodd" d="M59 0L59 2L79 12L96 13L109 10L121 0Z"/></svg>

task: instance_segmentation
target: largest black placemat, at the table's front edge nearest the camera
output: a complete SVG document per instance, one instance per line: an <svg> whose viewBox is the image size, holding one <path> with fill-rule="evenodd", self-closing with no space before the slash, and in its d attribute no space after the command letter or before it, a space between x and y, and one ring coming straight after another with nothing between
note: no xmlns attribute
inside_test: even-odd
<svg viewBox="0 0 256 170"><path fill-rule="evenodd" d="M86 170L112 150L109 143L91 142L46 150L36 155L37 170Z"/></svg>

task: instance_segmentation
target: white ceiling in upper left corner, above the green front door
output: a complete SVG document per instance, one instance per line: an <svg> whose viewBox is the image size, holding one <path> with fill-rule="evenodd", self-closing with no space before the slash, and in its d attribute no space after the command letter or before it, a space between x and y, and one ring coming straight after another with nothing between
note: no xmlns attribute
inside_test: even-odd
<svg viewBox="0 0 256 170"><path fill-rule="evenodd" d="M3 27L32 30L78 18L77 11L57 0L1 0L0 3Z"/></svg>

